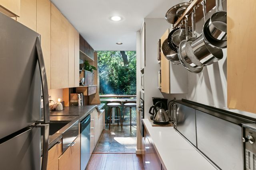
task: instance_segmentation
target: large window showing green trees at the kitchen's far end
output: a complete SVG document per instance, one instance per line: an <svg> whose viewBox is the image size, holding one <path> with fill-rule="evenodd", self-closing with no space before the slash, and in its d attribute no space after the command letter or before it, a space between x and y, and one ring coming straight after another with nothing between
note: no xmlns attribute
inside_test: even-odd
<svg viewBox="0 0 256 170"><path fill-rule="evenodd" d="M136 51L98 51L100 95L136 95Z"/></svg>

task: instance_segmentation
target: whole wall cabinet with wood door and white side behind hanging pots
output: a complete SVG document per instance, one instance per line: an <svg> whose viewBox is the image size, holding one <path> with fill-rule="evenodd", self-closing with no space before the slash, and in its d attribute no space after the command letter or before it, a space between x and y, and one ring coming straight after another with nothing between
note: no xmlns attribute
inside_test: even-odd
<svg viewBox="0 0 256 170"><path fill-rule="evenodd" d="M170 30L167 29L161 37L161 47L168 38ZM181 64L170 63L161 51L161 92L168 94L181 94L188 92L188 71Z"/></svg>

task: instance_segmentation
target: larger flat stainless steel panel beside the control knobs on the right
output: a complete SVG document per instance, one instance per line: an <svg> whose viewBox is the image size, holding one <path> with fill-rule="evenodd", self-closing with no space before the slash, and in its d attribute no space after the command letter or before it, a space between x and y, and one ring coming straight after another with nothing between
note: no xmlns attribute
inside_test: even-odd
<svg viewBox="0 0 256 170"><path fill-rule="evenodd" d="M222 170L242 170L242 127L196 110L197 147Z"/></svg>

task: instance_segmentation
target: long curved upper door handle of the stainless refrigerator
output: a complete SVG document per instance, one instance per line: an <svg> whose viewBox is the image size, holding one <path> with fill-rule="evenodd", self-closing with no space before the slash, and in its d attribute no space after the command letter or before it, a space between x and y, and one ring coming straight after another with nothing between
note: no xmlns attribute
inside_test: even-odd
<svg viewBox="0 0 256 170"><path fill-rule="evenodd" d="M44 105L44 123L50 122L50 111L49 111L49 94L48 94L48 85L46 78L46 70L44 65L44 57L40 43L40 37L36 38L36 52L38 57L38 63L40 68L40 76L42 83L42 94L43 94L43 105Z"/></svg>

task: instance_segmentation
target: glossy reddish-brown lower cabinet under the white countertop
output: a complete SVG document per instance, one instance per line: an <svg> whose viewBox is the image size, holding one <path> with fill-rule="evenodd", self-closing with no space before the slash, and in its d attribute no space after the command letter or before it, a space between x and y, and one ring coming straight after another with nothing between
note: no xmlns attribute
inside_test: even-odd
<svg viewBox="0 0 256 170"><path fill-rule="evenodd" d="M162 164L158 158L156 150L153 146L153 141L145 129L145 166L147 170L161 170Z"/></svg>

